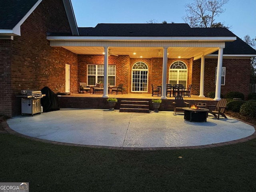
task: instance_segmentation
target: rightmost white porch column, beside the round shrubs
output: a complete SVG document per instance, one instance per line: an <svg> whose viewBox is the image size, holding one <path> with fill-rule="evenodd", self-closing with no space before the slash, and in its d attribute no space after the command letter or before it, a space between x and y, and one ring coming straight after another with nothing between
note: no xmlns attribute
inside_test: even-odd
<svg viewBox="0 0 256 192"><path fill-rule="evenodd" d="M216 78L216 90L215 98L213 100L220 100L220 89L221 89L221 70L222 70L222 60L223 60L223 47L219 47L218 54L218 65L217 65L217 78Z"/></svg>

